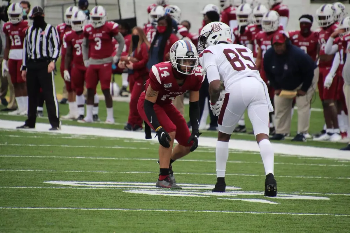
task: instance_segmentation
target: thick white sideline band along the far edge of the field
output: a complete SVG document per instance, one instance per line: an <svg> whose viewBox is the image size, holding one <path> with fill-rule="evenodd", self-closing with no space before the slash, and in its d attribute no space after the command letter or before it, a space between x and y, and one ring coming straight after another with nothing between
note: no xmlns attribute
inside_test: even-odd
<svg viewBox="0 0 350 233"><path fill-rule="evenodd" d="M23 123L16 122L16 121L0 120L0 128L3 128L3 129L15 129L16 126L20 124L23 124ZM30 129L25 131L49 132L48 131L49 128L50 128L49 124L37 123L36 129ZM55 133L103 136L103 137L114 137L114 138L130 138L130 139L137 139L137 140L145 139L144 132L129 132L124 130L100 129L100 128L90 128L90 127L71 126L71 125L63 125L62 130L56 131ZM153 138L150 140L158 141L158 139L156 138ZM216 138L201 137L199 140L199 145L207 146L207 147L208 146L216 147ZM278 144L278 143L272 143L272 145L275 153L279 153L279 154L350 160L349 152L339 151L337 149ZM254 152L260 151L260 148L256 142L247 141L247 140L231 139L229 142L229 148L242 150L242 151L254 151Z"/></svg>

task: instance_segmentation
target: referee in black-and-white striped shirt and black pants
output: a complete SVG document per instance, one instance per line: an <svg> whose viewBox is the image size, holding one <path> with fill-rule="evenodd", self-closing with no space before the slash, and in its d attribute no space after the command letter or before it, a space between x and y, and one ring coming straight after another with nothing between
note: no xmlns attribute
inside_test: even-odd
<svg viewBox="0 0 350 233"><path fill-rule="evenodd" d="M50 130L59 130L58 103L55 91L54 68L59 54L59 39L55 29L44 20L44 10L32 9L33 26L29 27L23 42L22 78L27 81L28 119L17 129L33 129L39 89L42 88Z"/></svg>

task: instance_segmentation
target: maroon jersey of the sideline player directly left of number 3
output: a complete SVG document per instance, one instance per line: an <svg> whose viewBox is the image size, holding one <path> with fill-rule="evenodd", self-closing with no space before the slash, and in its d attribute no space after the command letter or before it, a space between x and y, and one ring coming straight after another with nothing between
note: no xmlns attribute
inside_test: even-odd
<svg viewBox="0 0 350 233"><path fill-rule="evenodd" d="M67 46L71 46L73 49L72 53L72 63L79 66L85 70L83 53L82 53L82 44L84 35L83 32L77 33L76 31L68 31L64 34L64 41Z"/></svg>

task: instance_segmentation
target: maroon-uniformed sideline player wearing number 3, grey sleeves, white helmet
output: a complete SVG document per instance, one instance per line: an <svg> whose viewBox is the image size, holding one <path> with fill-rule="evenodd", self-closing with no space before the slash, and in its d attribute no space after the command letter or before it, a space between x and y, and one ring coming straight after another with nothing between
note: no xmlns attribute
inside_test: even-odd
<svg viewBox="0 0 350 233"><path fill-rule="evenodd" d="M86 117L82 122L92 122L94 93L97 83L101 83L101 89L105 96L107 119L106 123L113 124L113 101L110 93L112 78L112 62L117 63L124 49L124 37L118 30L118 24L106 22L106 10L102 6L95 6L90 12L91 24L84 27L84 39L82 46L83 61L86 70L87 103ZM119 43L116 56L112 57L112 38Z"/></svg>

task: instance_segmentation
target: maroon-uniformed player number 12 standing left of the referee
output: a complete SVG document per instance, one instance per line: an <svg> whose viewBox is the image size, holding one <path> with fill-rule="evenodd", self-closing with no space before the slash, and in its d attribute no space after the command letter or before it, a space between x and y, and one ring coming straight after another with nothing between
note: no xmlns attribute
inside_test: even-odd
<svg viewBox="0 0 350 233"><path fill-rule="evenodd" d="M12 3L7 9L9 21L3 24L2 31L6 36L5 51L2 60L2 76L8 72L15 90L18 109L9 115L27 115L28 94L26 81L22 79L20 71L22 65L23 40L28 23L23 21L23 9L20 3ZM8 61L8 64L7 64ZM8 66L7 66L8 65Z"/></svg>

